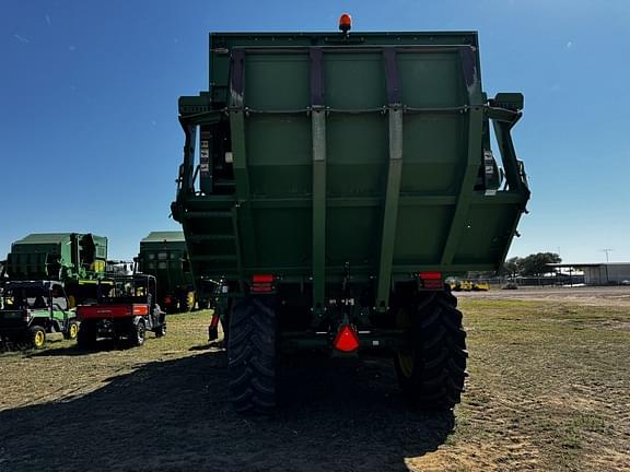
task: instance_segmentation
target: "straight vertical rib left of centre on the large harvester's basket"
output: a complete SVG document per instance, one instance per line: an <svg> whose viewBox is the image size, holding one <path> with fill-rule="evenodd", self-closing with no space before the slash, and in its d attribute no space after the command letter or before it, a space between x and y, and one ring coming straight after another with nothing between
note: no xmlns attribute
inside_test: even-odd
<svg viewBox="0 0 630 472"><path fill-rule="evenodd" d="M326 297L326 109L324 107L323 54L312 48L311 125L313 135L313 308L324 315Z"/></svg>

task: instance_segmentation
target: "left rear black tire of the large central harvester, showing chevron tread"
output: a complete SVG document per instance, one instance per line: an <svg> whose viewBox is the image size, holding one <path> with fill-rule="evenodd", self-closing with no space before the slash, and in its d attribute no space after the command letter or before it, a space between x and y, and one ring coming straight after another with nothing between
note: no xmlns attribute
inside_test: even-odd
<svg viewBox="0 0 630 472"><path fill-rule="evenodd" d="M276 311L271 299L246 297L230 315L230 397L238 413L276 408Z"/></svg>

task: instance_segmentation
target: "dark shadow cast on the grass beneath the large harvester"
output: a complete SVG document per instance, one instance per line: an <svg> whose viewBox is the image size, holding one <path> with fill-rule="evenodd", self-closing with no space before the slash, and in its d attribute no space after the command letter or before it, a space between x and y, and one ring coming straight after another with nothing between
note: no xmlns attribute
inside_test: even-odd
<svg viewBox="0 0 630 472"><path fill-rule="evenodd" d="M386 359L287 365L272 417L232 411L225 366L224 352L153 362L2 411L0 471L405 471L454 426L451 412L410 412Z"/></svg>

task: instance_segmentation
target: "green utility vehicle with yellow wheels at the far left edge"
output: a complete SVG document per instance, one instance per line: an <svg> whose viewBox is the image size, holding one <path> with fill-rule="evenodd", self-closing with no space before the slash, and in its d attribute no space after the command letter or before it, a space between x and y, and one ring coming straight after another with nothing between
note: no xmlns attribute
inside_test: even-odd
<svg viewBox="0 0 630 472"><path fill-rule="evenodd" d="M75 339L79 323L69 308L63 285L56 281L11 281L0 286L0 339L46 344L46 334Z"/></svg>

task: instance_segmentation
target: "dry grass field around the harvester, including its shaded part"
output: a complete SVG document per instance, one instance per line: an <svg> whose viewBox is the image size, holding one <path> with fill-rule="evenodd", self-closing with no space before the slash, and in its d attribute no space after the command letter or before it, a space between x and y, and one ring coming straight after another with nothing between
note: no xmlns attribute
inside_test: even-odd
<svg viewBox="0 0 630 472"><path fill-rule="evenodd" d="M304 358L276 416L238 416L207 312L140 349L3 352L0 471L630 471L630 290L584 293L462 296L453 414L409 411L388 358Z"/></svg>

